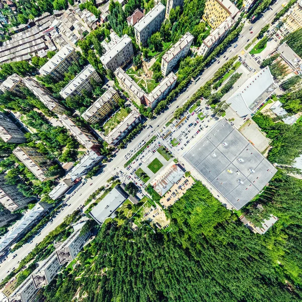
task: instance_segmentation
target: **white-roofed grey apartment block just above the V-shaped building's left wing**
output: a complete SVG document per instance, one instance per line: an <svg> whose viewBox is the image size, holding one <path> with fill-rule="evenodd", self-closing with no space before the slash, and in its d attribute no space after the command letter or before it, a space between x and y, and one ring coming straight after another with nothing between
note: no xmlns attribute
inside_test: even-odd
<svg viewBox="0 0 302 302"><path fill-rule="evenodd" d="M106 69L114 71L117 67L124 67L133 55L132 40L128 35L123 35L116 44L108 47L108 51L101 56L101 62Z"/></svg>

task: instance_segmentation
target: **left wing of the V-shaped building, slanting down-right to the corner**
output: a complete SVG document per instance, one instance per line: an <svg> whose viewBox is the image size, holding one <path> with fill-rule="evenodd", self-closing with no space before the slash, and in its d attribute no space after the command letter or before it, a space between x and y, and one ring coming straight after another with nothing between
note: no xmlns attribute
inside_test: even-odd
<svg viewBox="0 0 302 302"><path fill-rule="evenodd" d="M133 81L129 75L122 69L117 68L114 71L120 87L127 92L130 99L133 100L137 105L144 104L144 91Z"/></svg>

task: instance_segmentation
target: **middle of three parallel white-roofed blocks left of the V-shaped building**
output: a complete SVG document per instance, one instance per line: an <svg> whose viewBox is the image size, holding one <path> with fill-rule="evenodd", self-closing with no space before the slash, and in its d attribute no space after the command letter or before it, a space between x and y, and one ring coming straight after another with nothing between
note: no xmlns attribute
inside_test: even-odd
<svg viewBox="0 0 302 302"><path fill-rule="evenodd" d="M83 90L92 91L90 84L91 79L101 82L101 78L96 69L88 64L72 81L70 81L61 91L60 95L63 99L81 94Z"/></svg>

